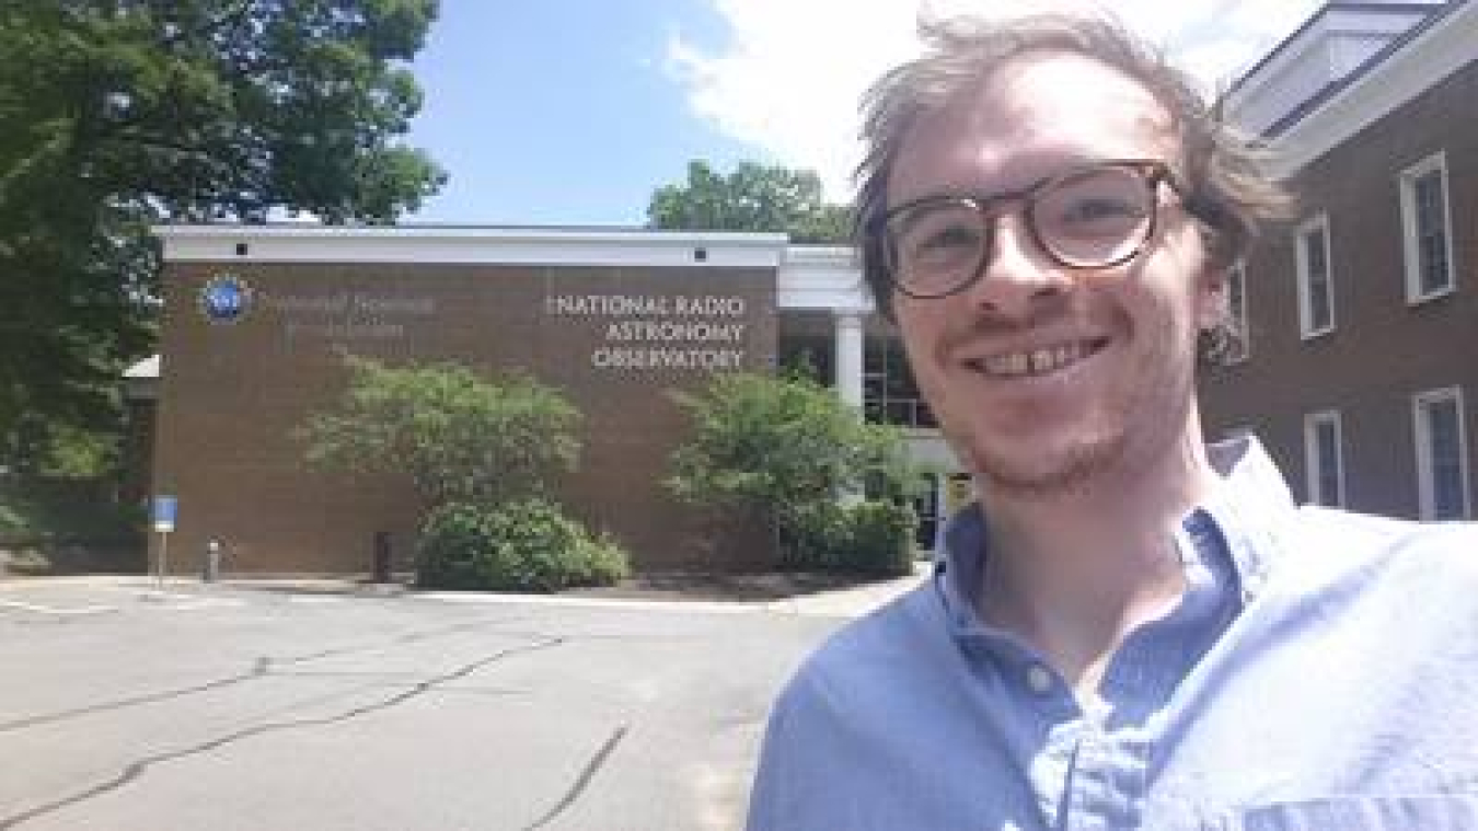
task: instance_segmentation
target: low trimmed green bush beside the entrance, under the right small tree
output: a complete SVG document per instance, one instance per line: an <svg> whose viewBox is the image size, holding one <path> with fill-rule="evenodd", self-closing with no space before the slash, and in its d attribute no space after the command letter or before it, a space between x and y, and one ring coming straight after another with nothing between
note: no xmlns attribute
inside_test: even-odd
<svg viewBox="0 0 1478 831"><path fill-rule="evenodd" d="M913 569L913 510L891 501L816 503L791 512L782 566L903 575Z"/></svg>

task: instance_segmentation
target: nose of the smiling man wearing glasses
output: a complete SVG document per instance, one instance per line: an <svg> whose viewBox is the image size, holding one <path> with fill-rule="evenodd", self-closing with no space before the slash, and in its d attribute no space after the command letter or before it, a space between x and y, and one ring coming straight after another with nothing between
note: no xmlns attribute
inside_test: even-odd
<svg viewBox="0 0 1478 831"><path fill-rule="evenodd" d="M968 291L981 312L1026 319L1073 287L1073 275L1042 250L1020 213L996 219L990 242L980 279Z"/></svg>

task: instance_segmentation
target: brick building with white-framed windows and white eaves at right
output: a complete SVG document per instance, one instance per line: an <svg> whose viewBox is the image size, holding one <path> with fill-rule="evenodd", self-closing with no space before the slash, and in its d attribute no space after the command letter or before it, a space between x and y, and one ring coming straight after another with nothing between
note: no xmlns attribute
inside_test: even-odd
<svg viewBox="0 0 1478 831"><path fill-rule="evenodd" d="M1326 3L1224 104L1299 204L1234 275L1208 432L1255 430L1308 501L1472 518L1478 3Z"/></svg>

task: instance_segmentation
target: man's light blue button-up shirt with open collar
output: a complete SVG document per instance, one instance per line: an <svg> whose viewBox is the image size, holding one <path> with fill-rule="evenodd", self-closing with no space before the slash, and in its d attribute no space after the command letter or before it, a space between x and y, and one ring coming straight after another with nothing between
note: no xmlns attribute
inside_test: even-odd
<svg viewBox="0 0 1478 831"><path fill-rule="evenodd" d="M1098 704L981 623L962 513L782 692L749 830L1478 830L1478 525L1298 507L1250 438L1212 463Z"/></svg>

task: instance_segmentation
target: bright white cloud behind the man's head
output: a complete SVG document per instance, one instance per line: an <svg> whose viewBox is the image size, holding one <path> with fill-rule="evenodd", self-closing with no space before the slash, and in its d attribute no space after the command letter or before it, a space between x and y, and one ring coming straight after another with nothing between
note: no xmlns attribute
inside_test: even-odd
<svg viewBox="0 0 1478 831"><path fill-rule="evenodd" d="M919 12L992 16L1091 0L711 0L729 41L704 50L674 34L668 68L693 111L780 164L820 173L828 195L851 194L860 157L857 102L888 67L916 53ZM1321 0L1119 0L1113 12L1169 47L1213 89L1249 67Z"/></svg>

